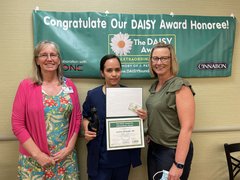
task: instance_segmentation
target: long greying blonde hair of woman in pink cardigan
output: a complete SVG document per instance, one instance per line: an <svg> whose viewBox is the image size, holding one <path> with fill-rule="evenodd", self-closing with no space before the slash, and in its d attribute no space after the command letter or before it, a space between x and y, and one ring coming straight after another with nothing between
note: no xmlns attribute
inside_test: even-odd
<svg viewBox="0 0 240 180"><path fill-rule="evenodd" d="M62 84L63 83L63 69L62 69L63 65L62 65L62 59L60 56L60 49L55 42L48 41L48 40L39 42L34 49L32 80L34 83L39 84L39 85L41 85L43 83L42 72L41 72L40 66L37 64L37 58L39 56L39 53L42 51L42 49L44 49L48 45L52 45L54 47L54 49L58 55L58 58L60 60L60 64L57 68L57 76L58 76L59 83Z"/></svg>

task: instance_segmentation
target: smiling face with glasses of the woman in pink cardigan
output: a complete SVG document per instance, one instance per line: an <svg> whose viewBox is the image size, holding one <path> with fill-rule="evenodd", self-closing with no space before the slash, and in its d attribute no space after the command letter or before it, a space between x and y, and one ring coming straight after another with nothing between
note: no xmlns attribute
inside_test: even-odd
<svg viewBox="0 0 240 180"><path fill-rule="evenodd" d="M42 73L56 73L60 65L60 59L54 45L47 44L43 47L36 58L36 63L40 66Z"/></svg>

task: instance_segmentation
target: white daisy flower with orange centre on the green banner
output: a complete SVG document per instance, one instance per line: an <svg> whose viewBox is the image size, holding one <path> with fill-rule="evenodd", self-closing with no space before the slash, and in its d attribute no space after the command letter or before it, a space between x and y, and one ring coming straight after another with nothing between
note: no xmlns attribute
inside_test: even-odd
<svg viewBox="0 0 240 180"><path fill-rule="evenodd" d="M132 41L129 39L129 35L127 33L115 34L111 39L111 49L116 55L122 56L127 55L132 49Z"/></svg>

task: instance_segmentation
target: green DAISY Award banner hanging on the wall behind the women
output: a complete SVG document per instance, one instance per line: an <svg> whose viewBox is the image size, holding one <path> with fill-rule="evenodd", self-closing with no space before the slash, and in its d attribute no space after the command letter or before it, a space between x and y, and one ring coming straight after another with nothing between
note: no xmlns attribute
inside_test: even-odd
<svg viewBox="0 0 240 180"><path fill-rule="evenodd" d="M219 16L33 11L34 45L59 44L67 77L99 78L99 61L118 55L122 78L150 78L157 42L175 47L181 77L230 76L236 19Z"/></svg>

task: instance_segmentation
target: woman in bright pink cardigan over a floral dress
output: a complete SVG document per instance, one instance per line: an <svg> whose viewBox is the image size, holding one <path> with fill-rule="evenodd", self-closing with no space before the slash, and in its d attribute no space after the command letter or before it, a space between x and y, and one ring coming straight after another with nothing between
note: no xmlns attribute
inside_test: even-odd
<svg viewBox="0 0 240 180"><path fill-rule="evenodd" d="M80 120L77 88L63 76L58 45L39 42L33 77L20 83L12 108L19 179L78 179L74 148Z"/></svg>

